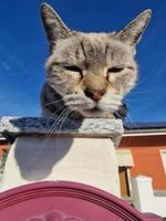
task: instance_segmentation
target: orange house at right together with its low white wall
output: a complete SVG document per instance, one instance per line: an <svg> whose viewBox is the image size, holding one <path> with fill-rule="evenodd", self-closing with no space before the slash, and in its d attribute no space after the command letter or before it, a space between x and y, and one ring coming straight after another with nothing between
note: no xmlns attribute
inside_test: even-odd
<svg viewBox="0 0 166 221"><path fill-rule="evenodd" d="M117 159L122 198L166 217L166 123L126 126Z"/></svg>

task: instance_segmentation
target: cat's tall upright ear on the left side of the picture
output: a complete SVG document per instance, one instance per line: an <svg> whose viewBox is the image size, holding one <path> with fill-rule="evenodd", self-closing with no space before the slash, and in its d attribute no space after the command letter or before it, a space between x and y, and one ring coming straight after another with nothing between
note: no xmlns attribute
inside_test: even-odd
<svg viewBox="0 0 166 221"><path fill-rule="evenodd" d="M44 2L41 4L41 18L50 43L50 50L52 51L56 40L66 39L71 35L71 31L53 8Z"/></svg>

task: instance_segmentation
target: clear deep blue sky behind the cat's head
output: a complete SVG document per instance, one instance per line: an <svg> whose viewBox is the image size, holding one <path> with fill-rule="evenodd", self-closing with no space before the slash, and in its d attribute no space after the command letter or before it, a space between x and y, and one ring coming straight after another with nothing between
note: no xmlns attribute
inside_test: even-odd
<svg viewBox="0 0 166 221"><path fill-rule="evenodd" d="M40 90L49 45L40 18L40 0L1 0L0 116L39 116ZM85 32L121 30L143 10L153 18L136 60L137 86L126 97L128 120L166 122L166 1L49 0L68 27Z"/></svg>

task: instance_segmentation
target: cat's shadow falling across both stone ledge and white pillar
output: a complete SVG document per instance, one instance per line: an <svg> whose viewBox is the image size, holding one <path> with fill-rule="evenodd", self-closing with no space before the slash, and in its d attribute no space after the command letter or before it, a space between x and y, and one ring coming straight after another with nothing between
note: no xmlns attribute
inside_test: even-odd
<svg viewBox="0 0 166 221"><path fill-rule="evenodd" d="M44 117L7 117L3 119L3 130L15 140L14 158L21 177L29 181L39 181L46 178L52 167L58 164L70 150L73 138L61 138L62 134L75 131L82 120ZM7 127L7 128L6 128ZM42 136L38 136L41 134ZM54 134L54 135L53 135ZM34 135L37 135L34 137ZM52 136L50 136L52 135ZM56 138L55 138L56 136Z"/></svg>

